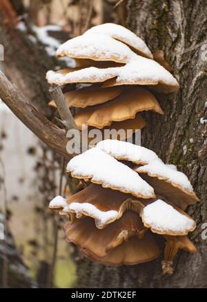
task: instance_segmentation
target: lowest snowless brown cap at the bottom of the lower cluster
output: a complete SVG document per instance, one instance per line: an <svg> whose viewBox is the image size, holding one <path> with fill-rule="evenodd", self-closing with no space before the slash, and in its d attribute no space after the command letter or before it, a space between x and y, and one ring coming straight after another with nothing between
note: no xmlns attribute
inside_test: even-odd
<svg viewBox="0 0 207 302"><path fill-rule="evenodd" d="M135 265L157 259L160 255L159 247L150 233L146 233L143 239L136 236L107 253L106 257L100 258L87 250L83 251L86 257L110 266Z"/></svg>

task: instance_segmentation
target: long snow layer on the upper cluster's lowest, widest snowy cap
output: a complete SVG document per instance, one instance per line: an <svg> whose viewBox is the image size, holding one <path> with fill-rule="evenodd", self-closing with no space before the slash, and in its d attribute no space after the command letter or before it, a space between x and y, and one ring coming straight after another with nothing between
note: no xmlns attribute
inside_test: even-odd
<svg viewBox="0 0 207 302"><path fill-rule="evenodd" d="M162 83L168 85L166 87L168 91L175 91L179 87L177 80L168 70L157 62L138 55L135 55L132 61L122 67L87 67L66 75L49 71L46 78L49 83L63 85L64 83L75 82L103 82L115 76L117 76L117 85L124 85L125 83L130 85L137 83L140 85L157 85Z"/></svg>

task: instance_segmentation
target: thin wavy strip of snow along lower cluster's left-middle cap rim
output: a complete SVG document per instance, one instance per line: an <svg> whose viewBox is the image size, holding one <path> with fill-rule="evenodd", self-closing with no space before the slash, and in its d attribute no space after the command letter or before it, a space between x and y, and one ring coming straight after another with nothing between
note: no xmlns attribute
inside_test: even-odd
<svg viewBox="0 0 207 302"><path fill-rule="evenodd" d="M68 204L68 206L63 208L64 212L70 212L71 210L77 213L77 217L81 217L81 214L83 213L95 218L97 220L97 225L100 227L104 224L107 224L112 219L115 219L119 214L114 210L106 212L100 211L96 206L89 204L88 202L84 202L82 204L80 204L79 202L72 202L71 204Z"/></svg>

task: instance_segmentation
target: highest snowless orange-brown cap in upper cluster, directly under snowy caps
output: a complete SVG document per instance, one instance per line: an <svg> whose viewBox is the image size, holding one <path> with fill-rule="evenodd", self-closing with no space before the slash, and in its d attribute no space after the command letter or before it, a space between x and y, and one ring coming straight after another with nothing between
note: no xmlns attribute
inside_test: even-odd
<svg viewBox="0 0 207 302"><path fill-rule="evenodd" d="M65 94L68 107L85 108L97 104L106 103L121 94L121 88L108 87L102 88L98 85L91 85L81 89L68 91ZM56 107L54 100L49 103L50 106Z"/></svg>

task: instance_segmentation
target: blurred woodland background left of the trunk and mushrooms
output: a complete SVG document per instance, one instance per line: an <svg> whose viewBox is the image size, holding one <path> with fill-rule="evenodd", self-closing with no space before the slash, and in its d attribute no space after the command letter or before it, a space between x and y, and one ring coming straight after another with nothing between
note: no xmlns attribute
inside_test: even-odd
<svg viewBox="0 0 207 302"><path fill-rule="evenodd" d="M74 65L69 58L56 60L57 47L92 25L124 25L126 4L126 0L1 0L0 69L53 120L46 72ZM77 190L64 173L65 165L0 100L0 288L76 285L81 255L64 240L63 221L48 210L55 195Z"/></svg>

